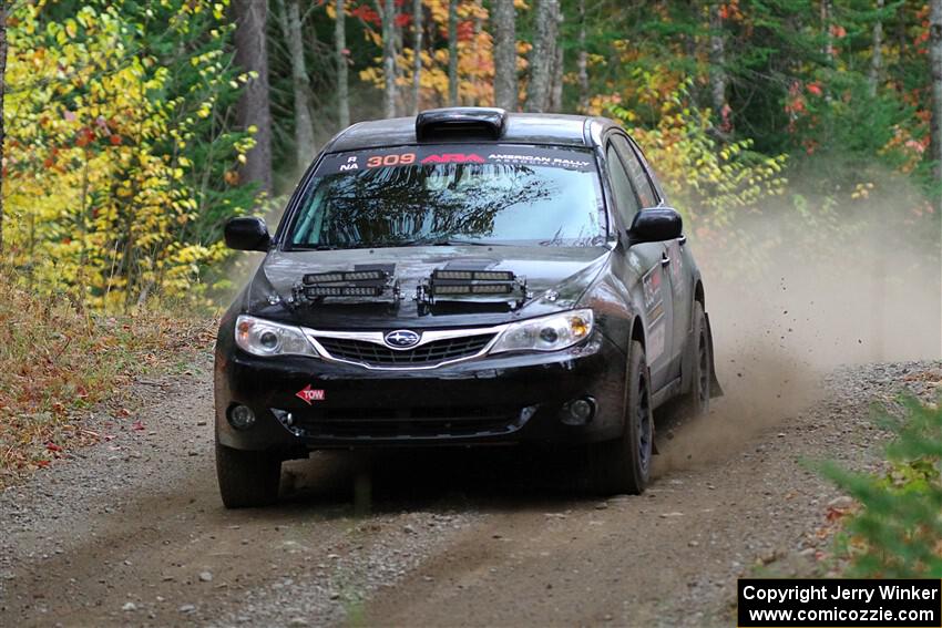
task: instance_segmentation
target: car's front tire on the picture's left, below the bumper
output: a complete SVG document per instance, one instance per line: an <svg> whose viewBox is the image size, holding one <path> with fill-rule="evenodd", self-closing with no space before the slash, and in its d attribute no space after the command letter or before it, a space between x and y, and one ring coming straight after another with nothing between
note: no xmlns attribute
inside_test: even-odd
<svg viewBox="0 0 942 628"><path fill-rule="evenodd" d="M216 475L227 508L268 506L278 500L281 459L216 443Z"/></svg>

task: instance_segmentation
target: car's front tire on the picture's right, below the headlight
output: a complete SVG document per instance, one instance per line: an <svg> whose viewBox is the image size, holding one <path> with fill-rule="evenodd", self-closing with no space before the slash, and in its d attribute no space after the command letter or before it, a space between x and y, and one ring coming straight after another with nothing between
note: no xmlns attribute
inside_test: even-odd
<svg viewBox="0 0 942 628"><path fill-rule="evenodd" d="M632 341L625 381L625 429L622 436L590 450L592 490L602 494L641 494L651 478L654 454L654 415L651 374L644 347Z"/></svg>

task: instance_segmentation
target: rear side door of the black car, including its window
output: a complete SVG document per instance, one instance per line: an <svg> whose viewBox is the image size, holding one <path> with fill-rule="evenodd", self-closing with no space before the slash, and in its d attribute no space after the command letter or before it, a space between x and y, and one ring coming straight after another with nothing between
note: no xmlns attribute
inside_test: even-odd
<svg viewBox="0 0 942 628"><path fill-rule="evenodd" d="M620 154L629 163L629 174L638 196L642 198L642 207L655 207L666 205L666 199L656 183L651 165L644 158L644 154L637 144L631 138L627 142L616 142L615 147ZM670 284L670 299L673 308L673 332L668 339L674 377L680 374L680 362L689 338L690 317L693 313L693 274L690 272L689 250L687 250L685 238L678 238L664 243L667 255L667 279Z"/></svg>

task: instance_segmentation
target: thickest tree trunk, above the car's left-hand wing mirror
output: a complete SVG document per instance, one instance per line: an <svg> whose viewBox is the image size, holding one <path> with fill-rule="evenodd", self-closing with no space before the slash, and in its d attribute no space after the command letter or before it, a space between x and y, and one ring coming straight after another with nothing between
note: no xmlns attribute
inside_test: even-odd
<svg viewBox="0 0 942 628"><path fill-rule="evenodd" d="M246 72L254 72L239 96L236 124L239 128L256 127L255 146L246 154L242 178L257 183L260 192L272 194L272 110L268 94L268 50L265 22L268 2L263 0L234 0L236 22L235 63Z"/></svg>

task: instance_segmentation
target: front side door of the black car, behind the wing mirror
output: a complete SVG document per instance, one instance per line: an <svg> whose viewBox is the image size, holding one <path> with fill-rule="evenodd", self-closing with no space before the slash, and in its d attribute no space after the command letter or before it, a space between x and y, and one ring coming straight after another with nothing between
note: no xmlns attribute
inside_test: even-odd
<svg viewBox="0 0 942 628"><path fill-rule="evenodd" d="M616 142L627 138L613 133L606 143L605 162L608 166L608 177L614 195L615 209L624 231L632 225L635 214L642 210L641 198L625 162L617 151ZM639 286L633 288L629 277L623 277L638 297L645 322L645 344L647 366L651 369L651 380L654 390L661 389L670 381L670 348L669 336L673 332L674 301L670 298L669 279L666 276L664 259L666 248L663 243L642 243L625 251L628 268L637 268L641 277Z"/></svg>

